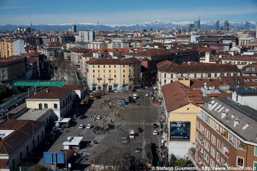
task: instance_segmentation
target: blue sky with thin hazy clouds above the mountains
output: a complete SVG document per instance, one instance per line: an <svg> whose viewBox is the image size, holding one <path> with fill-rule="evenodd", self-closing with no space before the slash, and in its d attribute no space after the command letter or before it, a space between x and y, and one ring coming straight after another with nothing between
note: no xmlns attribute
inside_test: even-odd
<svg viewBox="0 0 257 171"><path fill-rule="evenodd" d="M201 21L257 21L257 1L0 0L0 25L26 25L30 20L33 24L96 23L97 20L99 24L138 24L156 19L183 22L194 21L199 14Z"/></svg>

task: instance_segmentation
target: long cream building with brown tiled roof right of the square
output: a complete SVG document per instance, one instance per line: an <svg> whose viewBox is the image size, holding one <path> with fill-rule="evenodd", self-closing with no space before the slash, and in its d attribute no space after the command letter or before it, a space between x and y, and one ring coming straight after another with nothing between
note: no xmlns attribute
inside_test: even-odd
<svg viewBox="0 0 257 171"><path fill-rule="evenodd" d="M177 65L170 61L157 64L157 95L163 97L162 86L177 81L178 78L213 79L219 76L240 76L235 65L189 62ZM186 85L189 86L190 85ZM204 85L203 85L204 86Z"/></svg>

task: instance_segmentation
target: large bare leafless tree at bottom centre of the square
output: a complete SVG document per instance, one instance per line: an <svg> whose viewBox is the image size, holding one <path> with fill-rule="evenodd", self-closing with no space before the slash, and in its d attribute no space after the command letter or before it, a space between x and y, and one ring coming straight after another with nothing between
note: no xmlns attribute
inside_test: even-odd
<svg viewBox="0 0 257 171"><path fill-rule="evenodd" d="M142 163L140 153L135 153L136 146L141 146L137 138L127 138L126 143L122 142L122 134L112 131L100 144L100 154L96 157L96 165L103 165L104 170L129 170L132 165ZM124 137L123 137L124 138ZM124 140L124 139L123 139ZM104 152L103 152L103 149Z"/></svg>

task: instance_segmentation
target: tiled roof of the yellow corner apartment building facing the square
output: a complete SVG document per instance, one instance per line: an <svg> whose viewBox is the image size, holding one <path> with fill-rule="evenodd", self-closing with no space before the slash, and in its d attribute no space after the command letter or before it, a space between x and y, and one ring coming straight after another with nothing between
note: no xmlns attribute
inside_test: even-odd
<svg viewBox="0 0 257 171"><path fill-rule="evenodd" d="M87 61L88 64L131 64L141 62L137 58L124 58L124 59L91 59Z"/></svg>

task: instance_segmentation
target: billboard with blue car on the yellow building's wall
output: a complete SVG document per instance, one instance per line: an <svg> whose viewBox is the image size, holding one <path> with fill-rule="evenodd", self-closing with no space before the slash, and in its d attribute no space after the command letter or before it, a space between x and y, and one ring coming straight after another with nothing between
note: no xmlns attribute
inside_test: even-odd
<svg viewBox="0 0 257 171"><path fill-rule="evenodd" d="M190 141L190 122L170 122L170 141Z"/></svg>

